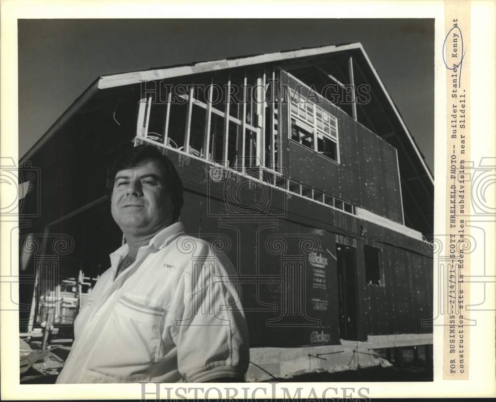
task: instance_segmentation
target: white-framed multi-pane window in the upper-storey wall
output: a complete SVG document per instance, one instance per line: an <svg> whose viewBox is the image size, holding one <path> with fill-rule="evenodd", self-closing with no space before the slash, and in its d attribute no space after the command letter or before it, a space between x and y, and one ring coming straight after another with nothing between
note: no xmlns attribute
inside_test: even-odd
<svg viewBox="0 0 496 402"><path fill-rule="evenodd" d="M289 89L290 138L339 163L337 118Z"/></svg>

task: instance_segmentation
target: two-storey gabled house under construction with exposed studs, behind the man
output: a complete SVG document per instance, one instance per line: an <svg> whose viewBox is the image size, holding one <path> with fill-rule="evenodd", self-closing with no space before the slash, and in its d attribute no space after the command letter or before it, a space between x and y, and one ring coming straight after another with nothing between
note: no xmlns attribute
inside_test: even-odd
<svg viewBox="0 0 496 402"><path fill-rule="evenodd" d="M25 339L49 311L52 338L72 336L123 241L110 165L141 143L177 166L186 232L238 269L248 380L432 345L433 176L359 43L93 82L20 161L21 181L36 173L19 216Z"/></svg>

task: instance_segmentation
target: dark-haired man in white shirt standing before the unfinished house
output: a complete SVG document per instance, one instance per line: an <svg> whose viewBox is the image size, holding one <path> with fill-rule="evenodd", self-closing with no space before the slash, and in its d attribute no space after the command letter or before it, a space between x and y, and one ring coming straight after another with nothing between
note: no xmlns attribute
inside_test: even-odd
<svg viewBox="0 0 496 402"><path fill-rule="evenodd" d="M178 222L183 186L174 165L140 145L110 177L126 242L80 308L57 383L243 381L249 343L229 280L236 272Z"/></svg>

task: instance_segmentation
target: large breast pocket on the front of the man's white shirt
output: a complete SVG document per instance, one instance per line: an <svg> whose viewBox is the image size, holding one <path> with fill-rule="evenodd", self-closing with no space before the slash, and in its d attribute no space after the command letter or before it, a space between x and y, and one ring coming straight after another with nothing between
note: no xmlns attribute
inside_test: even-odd
<svg viewBox="0 0 496 402"><path fill-rule="evenodd" d="M119 296L95 340L89 371L105 382L146 380L160 359L164 318L165 310L146 298Z"/></svg>

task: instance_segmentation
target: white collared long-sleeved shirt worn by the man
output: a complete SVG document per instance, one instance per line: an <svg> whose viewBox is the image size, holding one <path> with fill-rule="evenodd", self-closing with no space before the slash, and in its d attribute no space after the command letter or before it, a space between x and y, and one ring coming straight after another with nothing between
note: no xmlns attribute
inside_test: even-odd
<svg viewBox="0 0 496 402"><path fill-rule="evenodd" d="M236 272L209 243L177 222L127 254L110 254L74 322L74 343L57 383L243 381L248 328Z"/></svg>

